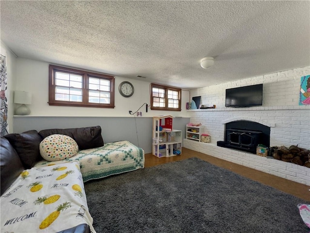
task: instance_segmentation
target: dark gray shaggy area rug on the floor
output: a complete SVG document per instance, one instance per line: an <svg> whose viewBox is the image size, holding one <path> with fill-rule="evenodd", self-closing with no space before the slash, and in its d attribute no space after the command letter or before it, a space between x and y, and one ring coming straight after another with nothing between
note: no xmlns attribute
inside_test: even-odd
<svg viewBox="0 0 310 233"><path fill-rule="evenodd" d="M85 183L97 233L308 233L307 203L198 158Z"/></svg>

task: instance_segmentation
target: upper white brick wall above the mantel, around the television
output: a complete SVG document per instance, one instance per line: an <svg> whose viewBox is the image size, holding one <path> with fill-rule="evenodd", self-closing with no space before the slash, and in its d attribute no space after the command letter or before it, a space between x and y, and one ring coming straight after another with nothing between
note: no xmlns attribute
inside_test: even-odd
<svg viewBox="0 0 310 233"><path fill-rule="evenodd" d="M217 108L225 107L225 90L227 88L263 83L263 106L298 105L300 78L310 75L310 67L282 71L253 78L206 86L190 91L190 96L201 96L201 104Z"/></svg>

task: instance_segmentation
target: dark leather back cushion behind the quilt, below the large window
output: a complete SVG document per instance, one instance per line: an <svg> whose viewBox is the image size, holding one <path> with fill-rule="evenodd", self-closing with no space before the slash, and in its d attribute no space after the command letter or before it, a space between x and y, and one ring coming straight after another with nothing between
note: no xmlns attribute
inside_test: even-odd
<svg viewBox="0 0 310 233"><path fill-rule="evenodd" d="M70 136L78 143L79 150L86 150L104 146L100 126L73 129L41 130L39 134L42 136L42 138L46 138L47 136L52 134L64 134Z"/></svg>

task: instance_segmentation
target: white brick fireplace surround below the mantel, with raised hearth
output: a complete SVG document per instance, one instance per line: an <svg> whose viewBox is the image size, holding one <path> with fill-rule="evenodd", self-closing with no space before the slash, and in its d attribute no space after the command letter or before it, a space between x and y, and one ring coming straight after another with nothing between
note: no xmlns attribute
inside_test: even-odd
<svg viewBox="0 0 310 233"><path fill-rule="evenodd" d="M211 135L211 143L200 143L184 139L184 147L294 182L310 185L310 168L306 166L261 157L235 148L217 146L217 141L225 140L227 123L252 121L270 129L270 147L298 144L299 147L308 149L310 147L309 130L307 130L307 124L305 126L302 122L308 119L309 109L309 106L301 106L277 110L273 107L255 107L247 110L227 108L211 109L211 111L210 109L189 110L191 122L202 123L202 125L206 126L205 132ZM300 116L305 116L305 118ZM309 124L309 121L306 123Z"/></svg>

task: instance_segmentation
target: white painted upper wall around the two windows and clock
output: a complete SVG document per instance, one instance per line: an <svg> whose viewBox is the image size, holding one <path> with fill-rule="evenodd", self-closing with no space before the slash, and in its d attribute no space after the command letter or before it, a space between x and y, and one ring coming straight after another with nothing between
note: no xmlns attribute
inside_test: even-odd
<svg viewBox="0 0 310 233"><path fill-rule="evenodd" d="M89 108L49 106L48 101L48 65L49 63L31 59L17 58L16 64L16 90L32 93L32 104L29 105L31 116L129 116L128 111L136 112L146 102L150 104L150 83L123 77L115 77L115 108ZM61 64L55 64L60 65ZM75 67L79 68L79 67ZM113 75L113 74L111 74ZM129 98L119 94L118 86L123 81L134 85L135 93ZM140 109L142 116L188 116L186 102L189 92L182 91L182 111L155 111L149 108L146 113L145 105Z"/></svg>

